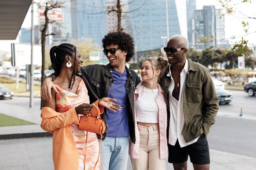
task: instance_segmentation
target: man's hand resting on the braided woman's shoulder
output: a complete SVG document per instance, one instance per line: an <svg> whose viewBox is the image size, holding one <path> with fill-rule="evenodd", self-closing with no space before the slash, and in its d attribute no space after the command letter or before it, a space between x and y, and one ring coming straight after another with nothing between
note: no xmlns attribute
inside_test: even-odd
<svg viewBox="0 0 256 170"><path fill-rule="evenodd" d="M51 102L52 95L51 95L51 89L58 93L57 88L55 87L54 83L52 82L52 77L47 77L44 79L42 87L41 87L41 97L43 100L46 100L47 102Z"/></svg>

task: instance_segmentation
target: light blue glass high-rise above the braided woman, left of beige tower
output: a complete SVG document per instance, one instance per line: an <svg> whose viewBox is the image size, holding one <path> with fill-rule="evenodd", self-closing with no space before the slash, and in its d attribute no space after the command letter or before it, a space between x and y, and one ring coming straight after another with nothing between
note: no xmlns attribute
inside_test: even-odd
<svg viewBox="0 0 256 170"><path fill-rule="evenodd" d="M107 4L113 4L113 0L74 0L71 2L72 38L82 40L93 39L93 43L99 44L106 35L107 29ZM114 13L110 15L114 16ZM110 19L110 16L108 16Z"/></svg>

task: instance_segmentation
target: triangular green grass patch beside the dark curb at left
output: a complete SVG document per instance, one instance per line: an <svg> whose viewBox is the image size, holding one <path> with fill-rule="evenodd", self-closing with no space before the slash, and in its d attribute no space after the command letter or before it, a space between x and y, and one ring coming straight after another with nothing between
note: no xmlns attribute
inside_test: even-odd
<svg viewBox="0 0 256 170"><path fill-rule="evenodd" d="M0 127L21 125L34 125L34 123L0 113Z"/></svg>

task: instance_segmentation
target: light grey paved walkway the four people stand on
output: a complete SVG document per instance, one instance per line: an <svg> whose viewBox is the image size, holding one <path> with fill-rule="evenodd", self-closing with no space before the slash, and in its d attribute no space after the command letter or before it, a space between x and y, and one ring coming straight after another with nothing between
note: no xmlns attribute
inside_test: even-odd
<svg viewBox="0 0 256 170"><path fill-rule="evenodd" d="M36 125L0 127L0 169L53 170L52 137L40 128L40 109L0 102L0 113L36 123ZM33 156L38 154L40 157ZM256 158L218 150L210 150L210 155L211 170L256 170ZM23 159L24 161L21 161ZM171 163L166 165L168 170L173 170ZM189 163L188 170L192 169L193 166ZM130 160L127 170L131 170Z"/></svg>

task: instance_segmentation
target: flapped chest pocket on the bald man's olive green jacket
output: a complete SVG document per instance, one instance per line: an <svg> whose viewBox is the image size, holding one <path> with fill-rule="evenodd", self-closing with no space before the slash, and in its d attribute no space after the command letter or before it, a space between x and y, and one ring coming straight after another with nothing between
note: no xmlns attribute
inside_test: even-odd
<svg viewBox="0 0 256 170"><path fill-rule="evenodd" d="M202 101L202 83L190 82L187 83L188 91L187 98L189 102L201 102Z"/></svg>

